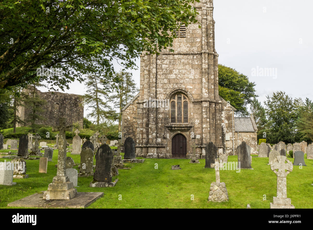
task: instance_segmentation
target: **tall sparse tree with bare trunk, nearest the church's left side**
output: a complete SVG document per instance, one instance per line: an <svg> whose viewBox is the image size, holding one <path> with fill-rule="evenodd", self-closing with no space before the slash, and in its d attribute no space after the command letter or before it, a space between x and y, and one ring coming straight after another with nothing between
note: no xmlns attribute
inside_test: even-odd
<svg viewBox="0 0 313 230"><path fill-rule="evenodd" d="M108 100L112 102L114 108L119 109L118 115L118 131L121 131L122 108L134 97L134 94L139 89L136 87L135 81L132 79L130 72L121 70L114 76L115 83L113 84L113 91Z"/></svg>

